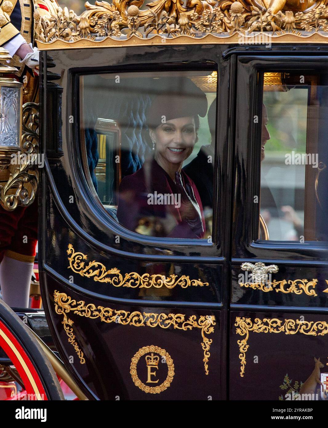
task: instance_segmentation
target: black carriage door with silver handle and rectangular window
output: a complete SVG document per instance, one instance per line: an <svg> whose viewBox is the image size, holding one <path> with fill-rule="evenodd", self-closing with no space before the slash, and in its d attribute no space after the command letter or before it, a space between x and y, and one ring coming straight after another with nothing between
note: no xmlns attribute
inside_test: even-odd
<svg viewBox="0 0 328 428"><path fill-rule="evenodd" d="M237 70L230 399L322 399L302 383L328 376L328 60Z"/></svg>

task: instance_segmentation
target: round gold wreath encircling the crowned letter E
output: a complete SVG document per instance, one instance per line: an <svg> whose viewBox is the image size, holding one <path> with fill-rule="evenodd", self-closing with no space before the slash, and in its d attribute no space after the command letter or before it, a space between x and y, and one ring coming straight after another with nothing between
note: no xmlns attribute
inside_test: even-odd
<svg viewBox="0 0 328 428"><path fill-rule="evenodd" d="M142 381L139 379L137 374L137 363L140 359L140 357L143 357L148 352L160 354L161 357L165 357L166 364L168 366L168 375L163 383L157 386L147 386L145 383L142 383ZM174 376L174 364L173 360L168 354L168 352L165 351L165 349L162 349L158 346L144 346L143 348L140 348L136 354L132 357L131 365L130 365L130 374L132 376L132 380L138 388L140 388L142 391L148 393L148 394L159 394L160 392L165 391L167 389Z"/></svg>

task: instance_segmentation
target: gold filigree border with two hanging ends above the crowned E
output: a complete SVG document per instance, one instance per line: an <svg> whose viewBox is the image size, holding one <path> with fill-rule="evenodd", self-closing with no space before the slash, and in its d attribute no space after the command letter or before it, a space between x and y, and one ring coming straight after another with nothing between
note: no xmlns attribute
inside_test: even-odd
<svg viewBox="0 0 328 428"><path fill-rule="evenodd" d="M79 359L80 364L85 363L83 352L75 340L72 325L74 321L67 317L66 314L73 312L75 315L80 317L97 319L105 323L115 322L121 325L133 325L135 327L148 326L148 327L160 327L168 329L173 327L177 330L192 330L193 328L201 329L201 336L203 342L201 343L204 351L204 368L205 373L208 375L208 361L210 358L210 345L213 340L208 339L205 335L209 335L214 332L216 320L213 315L201 315L198 319L196 315L191 315L186 319L186 315L183 314L164 314L154 312L127 312L124 310L116 310L110 308L104 308L103 306L95 306L93 303L86 304L83 300L76 301L71 299L66 293L60 293L55 291L54 294L55 311L57 314L63 316L62 324L64 325L65 332L68 336L68 342L74 347Z"/></svg>

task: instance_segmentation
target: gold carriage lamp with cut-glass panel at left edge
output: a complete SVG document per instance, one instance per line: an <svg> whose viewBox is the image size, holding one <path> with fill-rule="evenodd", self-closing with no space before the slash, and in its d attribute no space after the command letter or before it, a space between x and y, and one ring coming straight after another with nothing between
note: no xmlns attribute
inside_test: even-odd
<svg viewBox="0 0 328 428"><path fill-rule="evenodd" d="M0 166L8 164L13 152L21 147L22 88L12 77L18 70L2 62L12 57L0 48Z"/></svg>

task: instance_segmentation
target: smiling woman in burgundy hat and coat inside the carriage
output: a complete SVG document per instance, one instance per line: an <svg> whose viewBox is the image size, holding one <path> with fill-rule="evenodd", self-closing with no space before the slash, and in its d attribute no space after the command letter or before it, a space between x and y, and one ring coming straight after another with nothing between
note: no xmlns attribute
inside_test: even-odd
<svg viewBox="0 0 328 428"><path fill-rule="evenodd" d="M197 187L182 171L197 141L198 115L207 113L204 92L186 77L173 82L160 80L161 87L169 83L168 93L157 95L147 113L147 125L154 156L146 160L135 174L122 180L119 187L118 220L130 230L136 230L142 217L157 222L164 219L161 235L170 238L203 238L204 211ZM153 204L152 195L173 195L174 202L163 198ZM144 199L147 197L147 204ZM165 203L166 201L166 203ZM134 210L131 211L131 203Z"/></svg>

